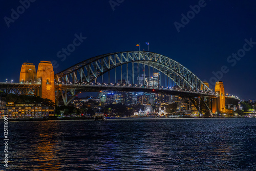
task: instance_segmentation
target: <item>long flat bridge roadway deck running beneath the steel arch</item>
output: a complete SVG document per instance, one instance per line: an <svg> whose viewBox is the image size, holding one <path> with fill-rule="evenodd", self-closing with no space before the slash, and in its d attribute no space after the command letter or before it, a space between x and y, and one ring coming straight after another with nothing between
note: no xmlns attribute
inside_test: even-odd
<svg viewBox="0 0 256 171"><path fill-rule="evenodd" d="M0 92L4 94L14 93L14 94L24 94L24 95L38 95L38 88L40 84L29 84L29 83L10 83L10 82L0 82ZM102 86L102 85L81 85L81 84L57 84L54 85L55 90L60 91L71 91L75 92L98 92L101 90L109 91L127 91L127 92L148 92L148 93L162 93L169 95L178 95L184 97L211 97L217 98L215 93L206 92L194 92L194 91L183 91L183 90L173 90L167 88L143 88L143 87L132 87L132 86ZM153 91L154 90L154 91ZM74 92L74 93L75 93ZM236 96L225 96L230 100L240 101Z"/></svg>

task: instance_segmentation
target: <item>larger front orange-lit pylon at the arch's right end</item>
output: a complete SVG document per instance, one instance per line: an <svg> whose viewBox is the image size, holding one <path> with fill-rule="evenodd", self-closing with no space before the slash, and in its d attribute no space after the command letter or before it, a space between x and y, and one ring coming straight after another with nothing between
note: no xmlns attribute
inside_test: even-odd
<svg viewBox="0 0 256 171"><path fill-rule="evenodd" d="M222 81L217 81L215 84L215 94L218 95L217 98L217 110L219 112L225 112L225 91Z"/></svg>

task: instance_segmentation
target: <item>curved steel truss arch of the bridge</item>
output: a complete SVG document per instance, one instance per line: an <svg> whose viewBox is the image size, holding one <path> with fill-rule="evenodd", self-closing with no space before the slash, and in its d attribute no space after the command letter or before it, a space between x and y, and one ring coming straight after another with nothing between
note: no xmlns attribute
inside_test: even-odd
<svg viewBox="0 0 256 171"><path fill-rule="evenodd" d="M195 74L179 62L153 52L126 51L92 57L55 74L57 82L93 82L102 74L126 63L142 63L164 73L180 88L212 92Z"/></svg>

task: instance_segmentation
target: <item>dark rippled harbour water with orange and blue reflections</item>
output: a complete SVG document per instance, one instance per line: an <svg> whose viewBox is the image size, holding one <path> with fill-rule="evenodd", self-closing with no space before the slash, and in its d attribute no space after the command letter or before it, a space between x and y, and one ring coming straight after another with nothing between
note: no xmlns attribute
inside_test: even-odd
<svg viewBox="0 0 256 171"><path fill-rule="evenodd" d="M9 122L9 137L10 170L256 170L256 118Z"/></svg>

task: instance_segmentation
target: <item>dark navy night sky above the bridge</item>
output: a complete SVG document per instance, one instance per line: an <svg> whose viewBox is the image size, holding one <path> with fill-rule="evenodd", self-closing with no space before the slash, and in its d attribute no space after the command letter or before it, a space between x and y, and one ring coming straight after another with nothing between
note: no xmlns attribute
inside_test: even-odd
<svg viewBox="0 0 256 171"><path fill-rule="evenodd" d="M201 80L218 76L226 93L256 99L255 9L254 0L1 0L0 82L18 82L24 62L37 68L41 60L54 61L58 73L90 57L138 50L136 44L147 50L150 42L150 51ZM83 37L81 44L59 58L76 36Z"/></svg>

